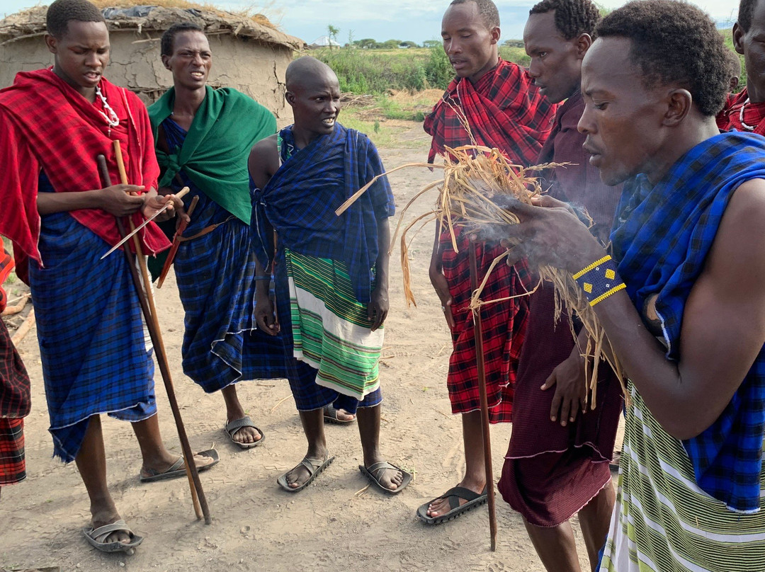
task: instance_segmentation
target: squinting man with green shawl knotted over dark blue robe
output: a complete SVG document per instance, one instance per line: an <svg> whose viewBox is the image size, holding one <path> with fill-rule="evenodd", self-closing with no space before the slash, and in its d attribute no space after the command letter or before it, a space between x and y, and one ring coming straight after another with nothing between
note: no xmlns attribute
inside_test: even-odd
<svg viewBox="0 0 765 572"><path fill-rule="evenodd" d="M236 382L285 377L271 336L254 318L255 255L250 230L247 157L276 132L274 116L236 89L212 89L210 44L196 24L174 24L161 40L174 86L149 107L160 187L189 187L199 197L174 259L186 312L184 373L226 401L225 431L238 447L262 444L264 434L245 414Z"/></svg>

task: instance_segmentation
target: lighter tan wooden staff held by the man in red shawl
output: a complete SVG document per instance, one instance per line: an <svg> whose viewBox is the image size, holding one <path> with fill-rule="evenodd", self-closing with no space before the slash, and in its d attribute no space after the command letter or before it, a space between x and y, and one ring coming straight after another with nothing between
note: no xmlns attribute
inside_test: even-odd
<svg viewBox="0 0 765 572"><path fill-rule="evenodd" d="M122 148L119 146L119 141L114 141L113 145L117 160L117 168L119 170L119 179L122 184L128 184L128 175L125 171L125 161L122 159ZM135 229L135 224L133 224L132 219L129 220L131 230ZM164 340L162 340L162 334L159 328L157 308L154 303L154 294L151 292L151 278L149 278L146 259L144 258L143 248L141 241L138 239L138 236L133 236L133 245L135 245L135 255L136 258L138 258L138 266L141 268L141 275L143 278L143 283L140 281L135 282L135 289L138 291L139 298L145 297L146 309L148 310L148 315L146 310L144 312L146 327L148 328L149 335L151 336L151 343L155 348L157 362L159 364L159 371L161 372L162 381L164 382L164 389L168 394L168 401L170 401L170 408L173 412L178 440L181 441L181 450L183 451L184 459L186 460L184 464L186 465L186 475L189 479L191 500L194 502L194 513L197 515L197 519L204 518L204 523L209 525L213 522L213 519L210 516L210 508L207 505L207 498L205 497L204 490L202 489L202 482L199 479L197 465L194 463L194 453L191 451L191 446L186 434L186 427L184 426L183 418L181 418L181 409L178 408L178 402L175 398L175 389L173 387L173 380L170 375L168 353L164 349ZM129 249L125 248L123 250ZM135 268L135 266L132 265L132 268ZM134 275L134 281L137 278L137 275Z"/></svg>

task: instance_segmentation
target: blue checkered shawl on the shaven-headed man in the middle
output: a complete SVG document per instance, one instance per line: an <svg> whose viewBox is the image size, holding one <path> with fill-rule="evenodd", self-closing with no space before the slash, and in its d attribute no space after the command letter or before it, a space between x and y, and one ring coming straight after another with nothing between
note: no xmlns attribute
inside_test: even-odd
<svg viewBox="0 0 765 572"><path fill-rule="evenodd" d="M291 126L279 137L282 147L294 147ZM377 220L396 212L387 177L379 178L342 216L334 211L382 172L369 138L339 123L331 135L292 154L264 189L254 190L252 206L259 212L252 219L261 237L258 256L264 266L271 258L263 246L269 244L265 215L291 251L345 262L356 300L368 303L378 254Z"/></svg>

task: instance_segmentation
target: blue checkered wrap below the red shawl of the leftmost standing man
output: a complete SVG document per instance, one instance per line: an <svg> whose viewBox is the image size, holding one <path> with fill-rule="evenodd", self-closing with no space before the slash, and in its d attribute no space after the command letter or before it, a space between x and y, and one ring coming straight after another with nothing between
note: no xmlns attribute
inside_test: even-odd
<svg viewBox="0 0 765 572"><path fill-rule="evenodd" d="M41 192L52 191L44 174ZM41 217L44 268L30 262L54 455L77 457L91 415L142 421L157 412L154 362L122 252L69 213Z"/></svg>

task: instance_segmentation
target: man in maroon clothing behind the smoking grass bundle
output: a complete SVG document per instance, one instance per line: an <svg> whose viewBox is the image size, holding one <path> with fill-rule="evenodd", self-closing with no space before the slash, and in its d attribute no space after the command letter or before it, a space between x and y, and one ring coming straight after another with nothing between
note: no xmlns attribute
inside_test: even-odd
<svg viewBox="0 0 765 572"><path fill-rule="evenodd" d="M608 187L582 148L577 124L584 111L581 62L600 15L591 0L542 0L526 22L523 40L529 75L550 102L563 102L539 164L565 164L544 173L549 195L584 206L590 231L606 244L621 186ZM604 365L587 405L581 354L586 331L575 344L568 309L555 320L555 291L545 283L529 297L529 327L518 362L513 434L499 489L520 512L547 570L579 572L569 519L578 513L591 566L603 546L614 508L609 460L622 407L616 375Z"/></svg>

